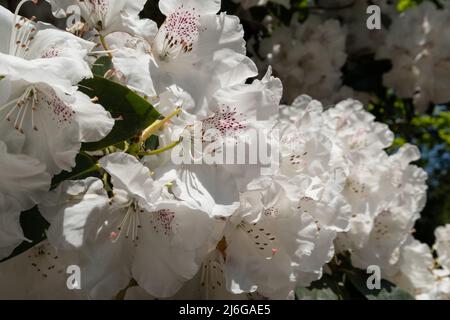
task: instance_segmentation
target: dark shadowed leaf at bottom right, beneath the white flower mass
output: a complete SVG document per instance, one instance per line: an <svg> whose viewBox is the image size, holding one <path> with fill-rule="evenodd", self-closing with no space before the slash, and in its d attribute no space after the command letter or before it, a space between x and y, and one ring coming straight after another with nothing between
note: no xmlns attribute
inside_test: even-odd
<svg viewBox="0 0 450 320"><path fill-rule="evenodd" d="M414 300L414 297L408 292L384 279L380 281L380 289L369 289L367 279L371 274L367 274L363 270L353 268L345 270L345 274L350 283L368 300Z"/></svg>

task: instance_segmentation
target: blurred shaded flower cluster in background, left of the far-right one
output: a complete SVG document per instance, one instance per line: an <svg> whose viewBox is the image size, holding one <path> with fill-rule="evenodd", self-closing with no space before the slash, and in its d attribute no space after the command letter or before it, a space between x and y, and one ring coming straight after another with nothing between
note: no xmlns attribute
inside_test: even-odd
<svg viewBox="0 0 450 320"><path fill-rule="evenodd" d="M290 26L274 27L272 37L263 40L260 51L265 60L261 65L272 65L283 81L288 102L300 94L326 104L337 102L341 98L337 92L345 90L341 80L347 58L345 36L337 20L311 16L300 24L294 17Z"/></svg>

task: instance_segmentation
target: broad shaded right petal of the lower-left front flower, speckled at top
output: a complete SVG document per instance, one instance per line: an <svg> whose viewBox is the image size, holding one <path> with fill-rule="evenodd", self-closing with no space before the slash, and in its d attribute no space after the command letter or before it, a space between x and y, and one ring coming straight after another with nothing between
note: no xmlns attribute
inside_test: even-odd
<svg viewBox="0 0 450 320"><path fill-rule="evenodd" d="M151 295L170 297L195 276L210 241L217 241L214 220L182 202L160 202L156 209L162 211L149 213L154 218L141 219L142 242L136 248L133 277ZM163 216L169 220L157 219Z"/></svg>

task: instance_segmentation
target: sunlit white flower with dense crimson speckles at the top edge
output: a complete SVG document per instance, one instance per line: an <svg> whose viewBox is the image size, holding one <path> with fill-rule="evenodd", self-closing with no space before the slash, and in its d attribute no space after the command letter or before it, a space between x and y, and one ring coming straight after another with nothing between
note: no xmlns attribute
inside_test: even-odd
<svg viewBox="0 0 450 320"><path fill-rule="evenodd" d="M206 3L160 2L166 20L150 41L126 34L106 38L110 47L117 49L113 61L128 85L148 97L177 85L196 103L191 106L195 109L192 111L202 114L218 89L257 74L255 65L245 55L239 19L224 13L218 15L220 1Z"/></svg>

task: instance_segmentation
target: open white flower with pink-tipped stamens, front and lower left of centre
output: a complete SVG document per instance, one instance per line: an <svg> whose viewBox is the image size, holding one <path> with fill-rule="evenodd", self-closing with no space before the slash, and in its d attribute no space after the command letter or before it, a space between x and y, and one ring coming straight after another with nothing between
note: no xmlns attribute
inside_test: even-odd
<svg viewBox="0 0 450 320"><path fill-rule="evenodd" d="M157 297L175 294L197 273L214 219L203 208L164 197L164 185L132 156L114 153L100 165L112 177L111 200L100 180L88 179L63 185L41 203L53 222L51 243L87 256L94 296L112 297L131 278Z"/></svg>

